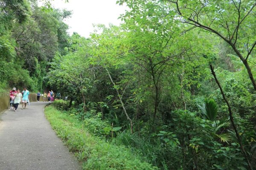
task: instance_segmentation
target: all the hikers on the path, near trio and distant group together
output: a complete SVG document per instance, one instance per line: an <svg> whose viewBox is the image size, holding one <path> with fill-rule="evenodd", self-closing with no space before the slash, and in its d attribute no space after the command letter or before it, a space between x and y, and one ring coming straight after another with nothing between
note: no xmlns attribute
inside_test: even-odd
<svg viewBox="0 0 256 170"><path fill-rule="evenodd" d="M38 91L37 93L37 102L40 100L41 93ZM55 94L53 91L49 91L48 94L44 92L44 102L48 100L48 102L53 102ZM61 94L57 93L56 94L56 100L61 99ZM20 89L12 88L10 91L10 109L14 110L15 112L17 111L18 105L22 103L22 108L21 109L26 109L27 103L29 103L29 91L26 89L26 87L23 87L23 91L20 93Z"/></svg>

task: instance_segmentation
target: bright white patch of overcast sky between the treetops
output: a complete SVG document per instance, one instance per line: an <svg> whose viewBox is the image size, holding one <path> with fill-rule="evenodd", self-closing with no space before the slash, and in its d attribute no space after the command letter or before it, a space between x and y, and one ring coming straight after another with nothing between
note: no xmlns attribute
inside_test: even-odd
<svg viewBox="0 0 256 170"><path fill-rule="evenodd" d="M117 18L128 9L116 4L116 0L69 0L68 3L64 0L53 0L52 6L73 11L72 17L65 20L70 26L68 31L70 34L77 32L83 37L89 37L93 32L93 24L119 25L121 20Z"/></svg>

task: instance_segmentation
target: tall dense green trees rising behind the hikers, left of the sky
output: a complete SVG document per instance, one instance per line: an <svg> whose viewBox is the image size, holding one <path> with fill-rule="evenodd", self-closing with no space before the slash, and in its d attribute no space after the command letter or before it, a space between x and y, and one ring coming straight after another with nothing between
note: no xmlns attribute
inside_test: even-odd
<svg viewBox="0 0 256 170"><path fill-rule="evenodd" d="M34 0L0 0L1 89L47 86L48 62L68 46L63 20L69 16L69 11L38 7Z"/></svg>

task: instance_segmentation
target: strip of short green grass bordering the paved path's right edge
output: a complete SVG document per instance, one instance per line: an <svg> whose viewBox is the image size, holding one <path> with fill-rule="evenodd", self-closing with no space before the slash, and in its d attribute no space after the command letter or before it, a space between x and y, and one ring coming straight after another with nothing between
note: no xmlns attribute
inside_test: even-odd
<svg viewBox="0 0 256 170"><path fill-rule="evenodd" d="M45 115L57 135L69 147L84 170L157 170L124 146L116 146L90 135L82 122L49 105Z"/></svg>

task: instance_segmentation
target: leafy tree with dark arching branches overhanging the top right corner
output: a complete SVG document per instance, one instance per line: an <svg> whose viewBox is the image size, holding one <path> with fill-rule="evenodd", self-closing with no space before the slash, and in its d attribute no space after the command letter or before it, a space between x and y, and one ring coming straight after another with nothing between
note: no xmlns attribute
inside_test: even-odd
<svg viewBox="0 0 256 170"><path fill-rule="evenodd" d="M250 54L253 58L253 49L256 45L255 1L166 1L176 9L181 23L192 26L189 30L201 28L227 42L243 62L256 91L256 81L249 64Z"/></svg>

